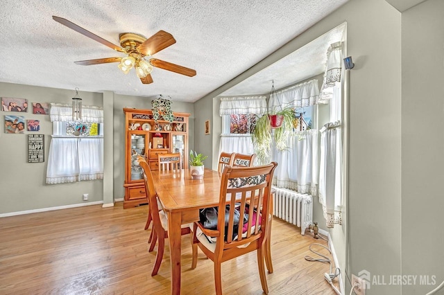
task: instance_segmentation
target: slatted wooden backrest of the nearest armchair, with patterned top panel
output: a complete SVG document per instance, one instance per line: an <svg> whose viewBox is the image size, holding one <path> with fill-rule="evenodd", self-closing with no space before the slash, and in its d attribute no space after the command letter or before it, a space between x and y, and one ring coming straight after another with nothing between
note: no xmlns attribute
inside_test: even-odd
<svg viewBox="0 0 444 295"><path fill-rule="evenodd" d="M264 166L223 169L217 230L225 242L217 239L216 250L265 238L263 233L269 231L271 181L276 166L278 163L272 162Z"/></svg>

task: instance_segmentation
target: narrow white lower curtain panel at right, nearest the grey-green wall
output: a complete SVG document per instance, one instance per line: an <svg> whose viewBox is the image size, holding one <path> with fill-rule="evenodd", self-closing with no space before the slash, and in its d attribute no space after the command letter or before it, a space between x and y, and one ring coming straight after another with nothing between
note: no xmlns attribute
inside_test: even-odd
<svg viewBox="0 0 444 295"><path fill-rule="evenodd" d="M321 160L319 168L319 202L327 227L342 224L342 132L341 122L327 123L321 129Z"/></svg>

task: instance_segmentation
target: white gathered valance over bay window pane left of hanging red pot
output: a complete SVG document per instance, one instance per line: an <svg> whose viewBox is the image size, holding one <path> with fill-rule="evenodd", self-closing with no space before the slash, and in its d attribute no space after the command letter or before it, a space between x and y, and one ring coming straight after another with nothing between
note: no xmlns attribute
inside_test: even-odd
<svg viewBox="0 0 444 295"><path fill-rule="evenodd" d="M266 96L229 97L221 98L219 114L264 114L266 111Z"/></svg>

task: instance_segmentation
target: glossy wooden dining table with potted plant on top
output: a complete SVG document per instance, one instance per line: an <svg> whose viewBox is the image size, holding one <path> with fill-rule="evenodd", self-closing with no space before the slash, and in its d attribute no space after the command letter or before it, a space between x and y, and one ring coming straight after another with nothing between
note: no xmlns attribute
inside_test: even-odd
<svg viewBox="0 0 444 295"><path fill-rule="evenodd" d="M222 175L208 168L203 179L191 179L189 169L152 172L157 197L168 218L171 294L180 294L180 227L198 221L201 208L219 205Z"/></svg>

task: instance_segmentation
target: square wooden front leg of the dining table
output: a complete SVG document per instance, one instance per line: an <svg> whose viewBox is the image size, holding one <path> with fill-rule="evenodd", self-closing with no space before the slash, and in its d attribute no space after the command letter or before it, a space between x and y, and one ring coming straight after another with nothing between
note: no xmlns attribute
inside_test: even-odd
<svg viewBox="0 0 444 295"><path fill-rule="evenodd" d="M180 295L180 212L168 213L168 240L171 255L171 294Z"/></svg>

